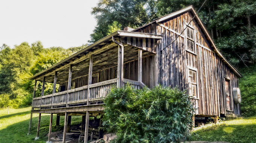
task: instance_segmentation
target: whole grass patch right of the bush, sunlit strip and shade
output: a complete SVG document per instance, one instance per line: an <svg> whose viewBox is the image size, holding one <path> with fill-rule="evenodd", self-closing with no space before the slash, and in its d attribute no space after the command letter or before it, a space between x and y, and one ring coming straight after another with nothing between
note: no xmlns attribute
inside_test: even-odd
<svg viewBox="0 0 256 143"><path fill-rule="evenodd" d="M256 116L195 128L192 139L195 141L256 143Z"/></svg>

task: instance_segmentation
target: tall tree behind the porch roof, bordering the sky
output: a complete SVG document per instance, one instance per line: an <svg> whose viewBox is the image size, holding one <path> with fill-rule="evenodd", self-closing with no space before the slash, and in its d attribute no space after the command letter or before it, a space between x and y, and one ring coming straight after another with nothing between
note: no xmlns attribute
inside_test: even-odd
<svg viewBox="0 0 256 143"><path fill-rule="evenodd" d="M144 8L146 2L146 0L100 0L91 12L95 15L97 26L88 42L100 40L108 33L112 33L113 29L119 30L126 26L138 27L147 23L148 15Z"/></svg>

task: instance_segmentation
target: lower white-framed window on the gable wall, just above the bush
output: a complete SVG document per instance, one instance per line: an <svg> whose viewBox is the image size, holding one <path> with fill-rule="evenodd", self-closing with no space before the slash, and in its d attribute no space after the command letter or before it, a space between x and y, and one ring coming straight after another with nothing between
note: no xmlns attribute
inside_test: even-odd
<svg viewBox="0 0 256 143"><path fill-rule="evenodd" d="M197 70L188 69L189 96L197 98Z"/></svg>

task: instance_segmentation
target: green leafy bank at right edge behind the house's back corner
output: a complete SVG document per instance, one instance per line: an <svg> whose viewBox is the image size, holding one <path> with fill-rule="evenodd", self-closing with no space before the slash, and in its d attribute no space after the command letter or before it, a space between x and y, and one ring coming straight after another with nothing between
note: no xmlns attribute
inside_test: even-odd
<svg viewBox="0 0 256 143"><path fill-rule="evenodd" d="M244 116L256 115L256 65L240 69L244 76L239 80L241 112Z"/></svg>

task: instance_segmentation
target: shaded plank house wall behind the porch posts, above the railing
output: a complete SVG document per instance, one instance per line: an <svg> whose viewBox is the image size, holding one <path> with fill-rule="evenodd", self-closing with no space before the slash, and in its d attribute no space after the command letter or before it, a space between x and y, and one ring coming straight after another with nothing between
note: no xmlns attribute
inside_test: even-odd
<svg viewBox="0 0 256 143"><path fill-rule="evenodd" d="M147 85L147 87L151 88L153 86L152 77L152 61L153 56L149 55L142 58L142 82ZM110 79L115 79L117 77L117 66L106 68L104 70L96 71L93 73L92 77L96 77L98 75L98 82L108 81ZM133 81L138 80L138 61L129 61L124 63L123 74L125 79L130 79ZM72 79L72 83L75 82L75 88L82 87L88 84L88 75L81 76L76 79ZM97 83L97 81L92 84ZM63 82L60 86L65 86L65 90L67 90L67 82Z"/></svg>

